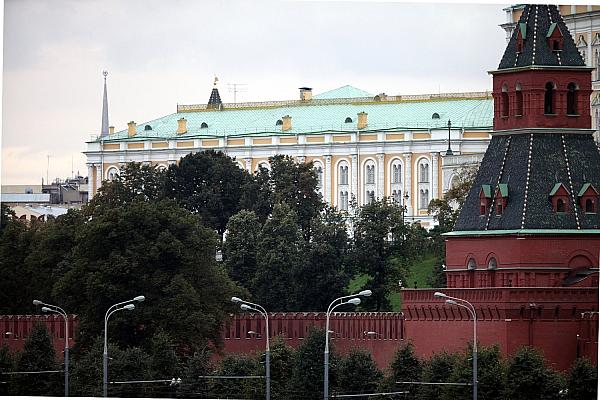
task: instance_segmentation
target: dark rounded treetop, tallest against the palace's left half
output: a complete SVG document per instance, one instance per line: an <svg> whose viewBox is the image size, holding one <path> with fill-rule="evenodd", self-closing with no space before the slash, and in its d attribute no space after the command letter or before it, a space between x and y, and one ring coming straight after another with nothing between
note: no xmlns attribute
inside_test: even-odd
<svg viewBox="0 0 600 400"><path fill-rule="evenodd" d="M207 150L188 154L166 172L165 195L202 220L223 237L227 221L240 210L241 188L248 173L223 152Z"/></svg>

